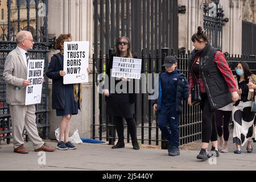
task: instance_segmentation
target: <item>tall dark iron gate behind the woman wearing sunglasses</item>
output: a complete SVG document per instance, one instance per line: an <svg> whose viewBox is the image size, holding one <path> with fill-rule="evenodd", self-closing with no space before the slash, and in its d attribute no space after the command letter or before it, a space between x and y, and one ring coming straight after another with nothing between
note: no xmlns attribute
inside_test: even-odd
<svg viewBox="0 0 256 182"><path fill-rule="evenodd" d="M131 40L133 53L141 56L145 53L162 47L178 47L178 6L177 0L94 0L94 57L99 72L94 77L97 81L98 73L105 70L105 59L108 50L114 47L120 36L127 36ZM101 64L101 61L104 61ZM98 82L97 82L98 84ZM94 87L93 87L94 89ZM95 90L93 90L95 92ZM106 123L104 110L104 97L99 94L100 122ZM135 110L141 111L141 96L137 97ZM95 123L95 100L93 97L93 123ZM96 104L97 105L97 104ZM148 106L144 108L148 110ZM141 123L141 117L137 122Z"/></svg>

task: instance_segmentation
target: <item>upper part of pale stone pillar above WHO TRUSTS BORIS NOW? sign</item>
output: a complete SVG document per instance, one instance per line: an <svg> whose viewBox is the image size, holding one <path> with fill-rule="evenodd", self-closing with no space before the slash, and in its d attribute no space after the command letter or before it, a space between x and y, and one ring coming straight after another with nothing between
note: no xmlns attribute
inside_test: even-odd
<svg viewBox="0 0 256 182"><path fill-rule="evenodd" d="M73 40L93 44L93 1L49 1L48 33L51 37L71 33Z"/></svg>

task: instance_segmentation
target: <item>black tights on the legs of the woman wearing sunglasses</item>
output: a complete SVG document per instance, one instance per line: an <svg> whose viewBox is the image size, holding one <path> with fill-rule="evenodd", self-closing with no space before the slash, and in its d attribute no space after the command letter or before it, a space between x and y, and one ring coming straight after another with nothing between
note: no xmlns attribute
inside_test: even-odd
<svg viewBox="0 0 256 182"><path fill-rule="evenodd" d="M118 141L123 142L125 137L123 136L123 120L122 117L113 117L115 123L115 129L117 130ZM137 142L137 126L134 118L125 118L128 131L131 135L131 142Z"/></svg>

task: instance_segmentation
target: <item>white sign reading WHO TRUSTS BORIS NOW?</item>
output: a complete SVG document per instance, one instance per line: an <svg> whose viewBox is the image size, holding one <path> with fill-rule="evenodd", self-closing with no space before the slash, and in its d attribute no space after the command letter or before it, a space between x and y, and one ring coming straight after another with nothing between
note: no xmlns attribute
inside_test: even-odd
<svg viewBox="0 0 256 182"><path fill-rule="evenodd" d="M64 42L63 84L88 82L89 42Z"/></svg>

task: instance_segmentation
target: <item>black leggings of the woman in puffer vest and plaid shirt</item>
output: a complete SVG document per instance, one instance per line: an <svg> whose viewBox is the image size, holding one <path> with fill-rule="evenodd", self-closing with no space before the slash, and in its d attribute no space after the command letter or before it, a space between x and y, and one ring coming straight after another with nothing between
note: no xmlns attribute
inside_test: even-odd
<svg viewBox="0 0 256 182"><path fill-rule="evenodd" d="M210 104L206 93L201 94L202 100L200 103L202 113L202 142L209 143L217 141L217 129L214 111L210 110Z"/></svg>

